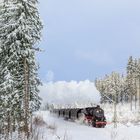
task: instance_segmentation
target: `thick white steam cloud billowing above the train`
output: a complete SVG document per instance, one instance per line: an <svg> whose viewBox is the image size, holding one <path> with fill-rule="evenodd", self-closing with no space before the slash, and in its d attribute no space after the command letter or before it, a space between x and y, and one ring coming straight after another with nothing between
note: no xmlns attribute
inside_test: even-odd
<svg viewBox="0 0 140 140"><path fill-rule="evenodd" d="M40 86L40 96L43 103L56 105L97 104L100 101L99 92L89 80L45 83Z"/></svg>

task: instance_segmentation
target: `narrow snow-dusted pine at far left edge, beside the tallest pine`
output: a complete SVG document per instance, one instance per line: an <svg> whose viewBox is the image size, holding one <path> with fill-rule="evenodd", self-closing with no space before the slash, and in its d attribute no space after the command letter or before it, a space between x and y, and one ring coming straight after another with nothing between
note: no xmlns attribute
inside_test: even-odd
<svg viewBox="0 0 140 140"><path fill-rule="evenodd" d="M7 63L3 61L4 52L0 52L0 132L5 132L5 137L11 133L12 122L12 96L13 80L7 68Z"/></svg>

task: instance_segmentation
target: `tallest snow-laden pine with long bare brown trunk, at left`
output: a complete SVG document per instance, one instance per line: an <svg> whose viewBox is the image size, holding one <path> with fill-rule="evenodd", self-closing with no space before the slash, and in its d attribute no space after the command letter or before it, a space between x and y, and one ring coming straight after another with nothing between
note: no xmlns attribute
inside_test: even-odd
<svg viewBox="0 0 140 140"><path fill-rule="evenodd" d="M40 106L34 46L40 40L42 24L36 6L37 0L4 0L0 12L2 61L13 80L12 88L6 89L12 97L10 111L19 131L23 128L27 137L29 119Z"/></svg>

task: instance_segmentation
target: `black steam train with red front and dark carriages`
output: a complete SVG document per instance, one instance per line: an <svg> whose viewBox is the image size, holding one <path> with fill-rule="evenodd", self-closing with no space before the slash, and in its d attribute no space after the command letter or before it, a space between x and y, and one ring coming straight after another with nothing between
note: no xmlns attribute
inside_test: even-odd
<svg viewBox="0 0 140 140"><path fill-rule="evenodd" d="M104 110L99 105L86 108L54 109L52 112L65 120L81 120L83 123L96 128L104 128L107 124Z"/></svg>

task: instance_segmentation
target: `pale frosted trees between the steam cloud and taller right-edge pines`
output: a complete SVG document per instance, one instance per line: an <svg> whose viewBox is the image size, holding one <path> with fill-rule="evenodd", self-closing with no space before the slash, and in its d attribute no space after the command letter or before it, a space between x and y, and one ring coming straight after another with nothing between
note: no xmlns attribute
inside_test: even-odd
<svg viewBox="0 0 140 140"><path fill-rule="evenodd" d="M103 102L122 102L124 98L128 98L125 93L125 78L119 73L112 72L103 79L96 79L95 85L101 93L101 103Z"/></svg>

